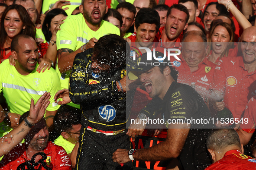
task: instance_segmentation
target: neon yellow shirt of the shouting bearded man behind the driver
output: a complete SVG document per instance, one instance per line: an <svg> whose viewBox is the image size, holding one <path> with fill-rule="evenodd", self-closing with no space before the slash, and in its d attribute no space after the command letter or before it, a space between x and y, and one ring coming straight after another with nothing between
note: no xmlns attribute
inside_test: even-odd
<svg viewBox="0 0 256 170"><path fill-rule="evenodd" d="M102 20L100 28L97 31L92 31L87 26L83 14L80 13L75 16L68 16L68 18L65 19L65 22L61 25L61 30L57 32L57 50L68 48L75 51L85 43L89 42L91 38L99 39L107 34L120 35L120 30L110 22ZM62 89L68 89L70 71L61 74L57 64L56 72L60 77ZM70 105L75 107L75 104Z"/></svg>

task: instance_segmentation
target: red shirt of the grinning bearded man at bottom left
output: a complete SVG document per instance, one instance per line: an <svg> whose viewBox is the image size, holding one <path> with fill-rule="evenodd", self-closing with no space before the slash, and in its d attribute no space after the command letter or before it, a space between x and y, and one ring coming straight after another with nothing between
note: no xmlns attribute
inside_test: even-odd
<svg viewBox="0 0 256 170"><path fill-rule="evenodd" d="M47 147L44 150L47 155L47 159L44 161L46 164L52 168L52 170L71 170L71 161L66 153L65 149L61 146L55 145L52 142L48 142ZM26 146L23 143L18 145L9 154L6 154L1 163L1 170L16 170L17 167L24 163L25 160L29 160L26 155ZM39 165L35 167L38 169ZM41 166L40 170L45 170Z"/></svg>

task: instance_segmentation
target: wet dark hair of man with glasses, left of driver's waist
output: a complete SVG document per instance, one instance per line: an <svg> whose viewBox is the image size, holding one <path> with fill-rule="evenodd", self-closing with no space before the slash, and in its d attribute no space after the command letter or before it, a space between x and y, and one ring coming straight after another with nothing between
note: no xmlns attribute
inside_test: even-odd
<svg viewBox="0 0 256 170"><path fill-rule="evenodd" d="M57 132L68 132L72 129L73 125L81 124L81 109L62 105L53 119L53 125Z"/></svg>

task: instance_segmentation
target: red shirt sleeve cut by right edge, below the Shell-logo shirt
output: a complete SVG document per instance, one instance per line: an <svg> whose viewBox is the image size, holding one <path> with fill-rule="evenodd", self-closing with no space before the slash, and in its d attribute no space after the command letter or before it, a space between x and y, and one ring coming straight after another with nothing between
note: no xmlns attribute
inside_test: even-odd
<svg viewBox="0 0 256 170"><path fill-rule="evenodd" d="M245 122L247 118L248 123ZM253 96L244 110L243 123L240 124L240 128L247 132L253 133L255 131L255 122L256 122L256 96Z"/></svg>

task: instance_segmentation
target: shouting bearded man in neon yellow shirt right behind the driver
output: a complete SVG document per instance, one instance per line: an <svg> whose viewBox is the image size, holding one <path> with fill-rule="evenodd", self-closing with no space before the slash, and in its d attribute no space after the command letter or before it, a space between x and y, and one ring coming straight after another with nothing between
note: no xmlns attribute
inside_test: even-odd
<svg viewBox="0 0 256 170"><path fill-rule="evenodd" d="M113 24L102 20L107 13L106 0L82 0L80 14L68 16L57 33L58 69L61 86L68 88L70 69L75 55L94 47L97 40L107 34L120 35ZM72 106L72 104L71 104Z"/></svg>

